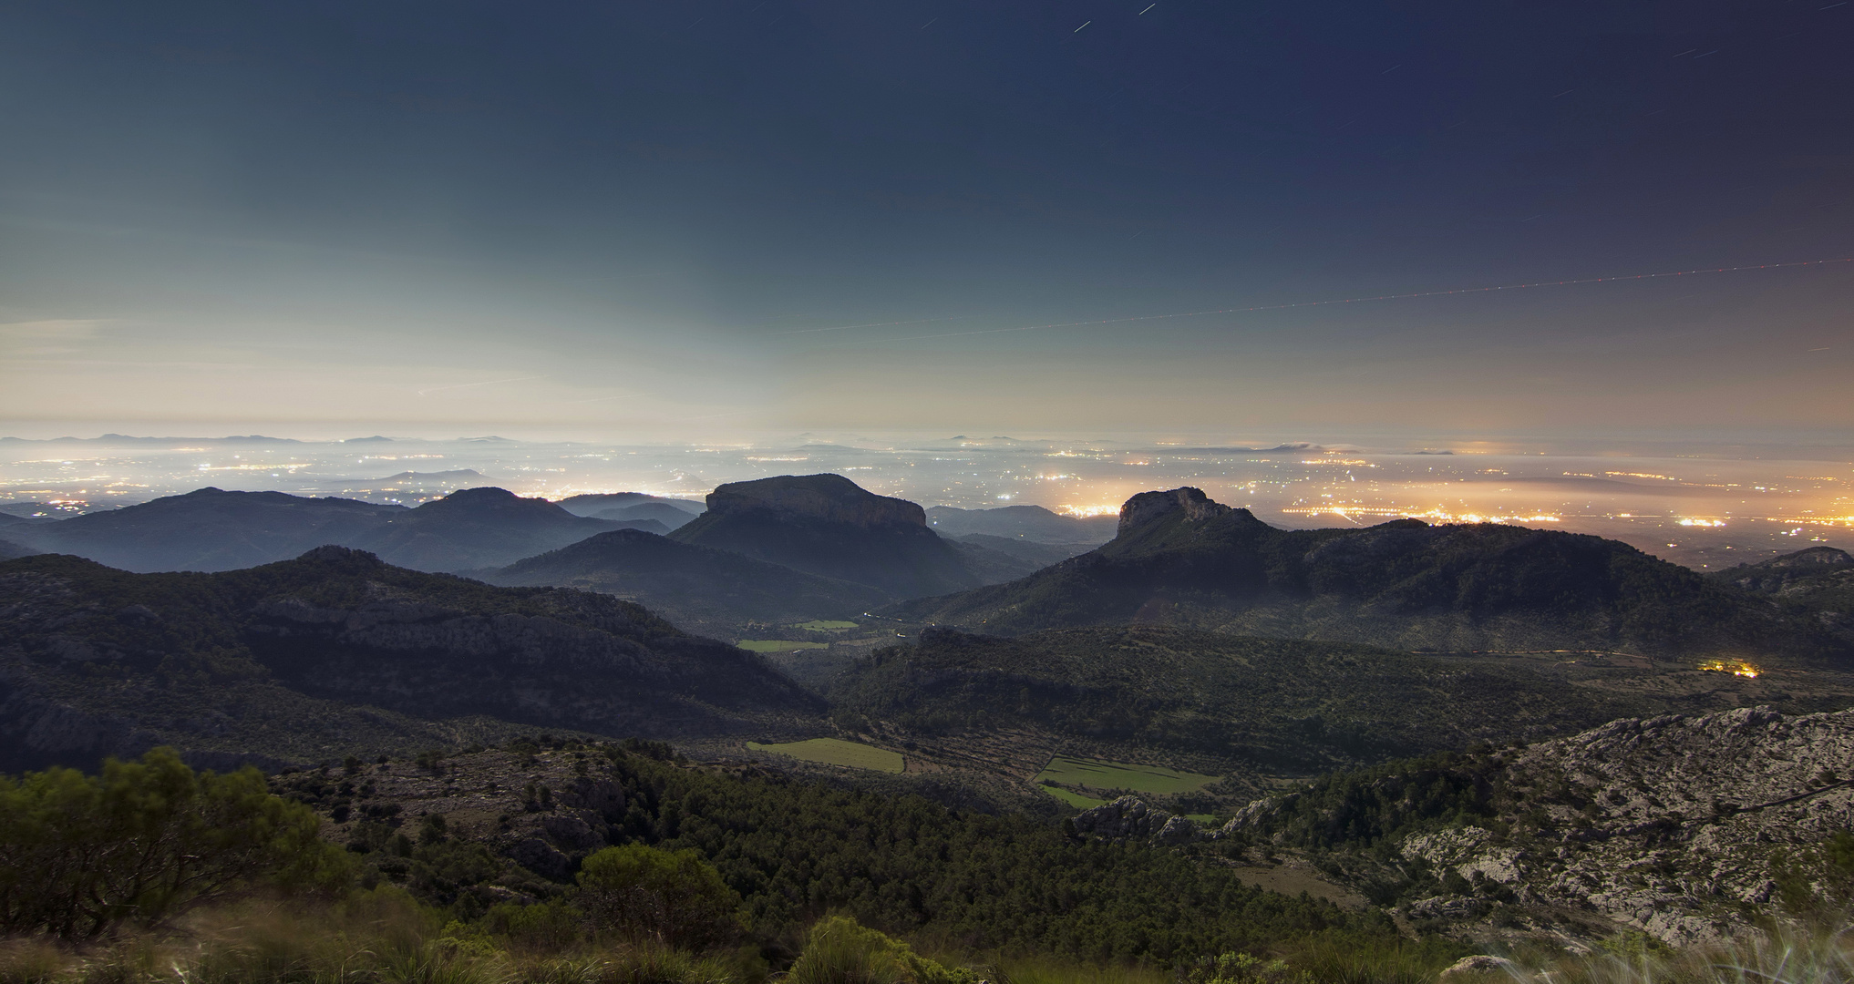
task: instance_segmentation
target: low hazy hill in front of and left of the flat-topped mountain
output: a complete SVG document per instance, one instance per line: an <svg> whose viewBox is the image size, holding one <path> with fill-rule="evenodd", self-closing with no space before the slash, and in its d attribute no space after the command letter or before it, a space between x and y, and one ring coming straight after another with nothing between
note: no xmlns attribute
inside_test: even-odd
<svg viewBox="0 0 1854 984"><path fill-rule="evenodd" d="M636 530L599 534L484 573L493 584L552 584L636 600L684 628L803 623L860 615L888 597L727 550Z"/></svg>

